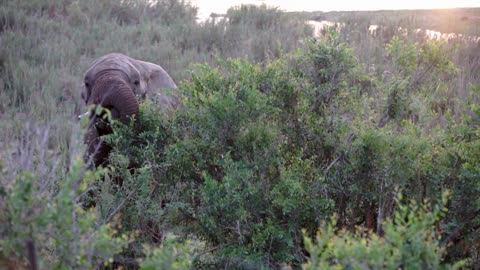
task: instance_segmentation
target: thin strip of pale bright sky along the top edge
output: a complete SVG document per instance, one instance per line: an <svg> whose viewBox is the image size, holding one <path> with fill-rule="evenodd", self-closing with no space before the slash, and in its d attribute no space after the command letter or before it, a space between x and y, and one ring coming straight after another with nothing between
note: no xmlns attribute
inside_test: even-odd
<svg viewBox="0 0 480 270"><path fill-rule="evenodd" d="M343 11L480 7L480 0L190 0L201 19L240 4L267 4L285 11Z"/></svg>

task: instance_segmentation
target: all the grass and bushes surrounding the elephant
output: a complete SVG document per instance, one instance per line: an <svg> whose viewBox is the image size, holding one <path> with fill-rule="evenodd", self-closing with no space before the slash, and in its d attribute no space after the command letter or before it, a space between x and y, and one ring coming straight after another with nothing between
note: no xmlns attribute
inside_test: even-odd
<svg viewBox="0 0 480 270"><path fill-rule="evenodd" d="M479 267L478 43L361 16L310 38L312 14L266 6L1 6L1 267ZM111 51L165 67L182 107L143 102L88 171L80 82Z"/></svg>

